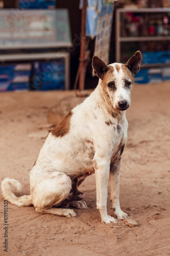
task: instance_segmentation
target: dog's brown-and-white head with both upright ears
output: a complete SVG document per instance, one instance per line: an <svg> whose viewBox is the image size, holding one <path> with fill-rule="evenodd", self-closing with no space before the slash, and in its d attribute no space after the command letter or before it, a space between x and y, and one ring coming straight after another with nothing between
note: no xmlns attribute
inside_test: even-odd
<svg viewBox="0 0 170 256"><path fill-rule="evenodd" d="M94 74L102 80L103 94L110 99L114 109L124 111L129 108L134 76L140 70L140 63L140 51L126 64L112 63L107 66L100 58L92 58Z"/></svg>

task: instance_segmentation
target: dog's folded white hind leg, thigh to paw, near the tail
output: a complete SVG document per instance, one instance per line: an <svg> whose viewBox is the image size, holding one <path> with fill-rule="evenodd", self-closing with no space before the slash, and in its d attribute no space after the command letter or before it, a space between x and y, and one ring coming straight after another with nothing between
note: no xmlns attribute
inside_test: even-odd
<svg viewBox="0 0 170 256"><path fill-rule="evenodd" d="M39 179L38 179L39 178ZM54 214L65 217L76 217L74 210L54 208L62 204L70 193L71 179L63 173L48 172L30 176L31 194L36 211L42 214Z"/></svg>

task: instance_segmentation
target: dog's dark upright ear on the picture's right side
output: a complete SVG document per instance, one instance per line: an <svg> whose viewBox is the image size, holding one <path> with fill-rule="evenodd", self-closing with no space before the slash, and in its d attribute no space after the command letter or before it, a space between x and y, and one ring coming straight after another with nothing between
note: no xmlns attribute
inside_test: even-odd
<svg viewBox="0 0 170 256"><path fill-rule="evenodd" d="M137 51L135 54L128 60L125 67L127 67L133 75L140 70L140 63L141 63L141 52Z"/></svg>

